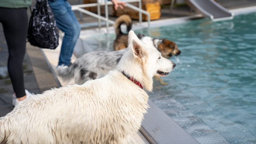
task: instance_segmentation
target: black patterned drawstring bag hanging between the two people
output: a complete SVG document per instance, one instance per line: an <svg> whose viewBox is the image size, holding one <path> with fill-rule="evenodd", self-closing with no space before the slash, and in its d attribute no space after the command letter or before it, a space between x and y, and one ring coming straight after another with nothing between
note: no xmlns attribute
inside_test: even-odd
<svg viewBox="0 0 256 144"><path fill-rule="evenodd" d="M55 49L59 45L59 33L47 0L37 0L33 8L27 40L31 45Z"/></svg>

